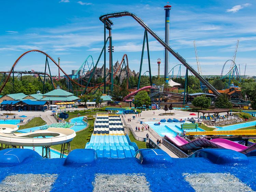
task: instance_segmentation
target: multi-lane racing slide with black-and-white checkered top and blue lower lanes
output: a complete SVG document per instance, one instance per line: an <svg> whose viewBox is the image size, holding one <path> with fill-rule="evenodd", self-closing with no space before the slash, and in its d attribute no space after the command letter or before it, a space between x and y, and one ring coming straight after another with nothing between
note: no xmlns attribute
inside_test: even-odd
<svg viewBox="0 0 256 192"><path fill-rule="evenodd" d="M85 149L95 149L98 157L126 158L133 157L138 147L125 133L119 115L97 115L94 132Z"/></svg>

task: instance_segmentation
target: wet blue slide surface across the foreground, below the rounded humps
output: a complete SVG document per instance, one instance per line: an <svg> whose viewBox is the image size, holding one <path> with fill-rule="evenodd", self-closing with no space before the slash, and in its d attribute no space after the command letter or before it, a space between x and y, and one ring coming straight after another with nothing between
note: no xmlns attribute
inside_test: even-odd
<svg viewBox="0 0 256 192"><path fill-rule="evenodd" d="M29 174L48 174L57 177L56 180L51 183L52 191L104 191L104 189L108 189L110 187L109 185L113 183L114 187L118 187L119 191L128 191L127 188L129 188L129 186L140 183L140 185L137 186L137 190L130 191L146 191L140 190L141 187L146 184L152 192L194 192L195 189L193 187L195 186L191 186L188 178L189 175L193 176L198 174L200 177L195 178L197 179L195 184L197 187L201 186L206 189L205 191L227 191L227 189L225 190L225 188L223 188L223 184L232 183L233 179L227 181L224 179L223 174L230 174L237 177L246 186L250 186L252 191L256 190L256 158L253 157L249 158L248 164L230 165L213 164L208 159L204 158L172 158L172 164L170 165L140 164L135 158L98 158L95 165L78 167L64 166L64 162L65 158L27 159L24 163L17 166L1 166L0 181L4 180L7 176L24 174L24 180L30 181L29 183L31 183L31 180L27 179ZM220 175L219 173L223 174ZM206 177L206 175L210 174L214 176L212 177L214 180L212 180L212 185L207 185L206 183L209 182L209 180L211 181L211 178ZM128 176L135 176L135 178L128 179ZM100 182L98 182L98 177L102 179ZM222 180L223 182L214 182L216 178L218 181ZM40 178L35 179L35 181L37 180L41 181ZM124 182L129 184L125 186L127 187L126 189L124 185L122 185ZM96 190L98 189L97 187L101 190ZM113 190L114 187L111 189ZM201 189L199 191L204 190Z"/></svg>

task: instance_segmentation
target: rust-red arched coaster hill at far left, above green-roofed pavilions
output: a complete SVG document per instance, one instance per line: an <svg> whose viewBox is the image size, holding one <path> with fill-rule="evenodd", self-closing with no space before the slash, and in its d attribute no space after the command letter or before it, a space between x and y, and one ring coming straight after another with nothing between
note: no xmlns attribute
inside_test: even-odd
<svg viewBox="0 0 256 192"><path fill-rule="evenodd" d="M84 87L84 88L85 88L84 85L81 85L81 84L77 83L75 80L73 80L72 78L70 78L69 75L68 75L65 71L63 71L63 69L61 69L61 68L59 67L58 63L57 63L51 56L49 56L47 53L45 53L45 52L43 52L43 51L40 51L40 50L29 50L29 51L26 51L25 53L23 53L22 55L20 55L19 58L13 63L12 68L11 68L11 70L9 71L8 76L6 77L5 82L3 83L3 85L2 85L1 88L0 88L0 93L2 92L2 90L3 90L4 86L6 85L6 83L8 82L8 80L9 80L11 74L12 74L12 71L13 71L13 69L15 68L15 66L17 65L17 63L19 62L19 60L20 60L21 58L23 58L25 55L27 55L28 53L31 53L31 52L38 52L38 53L41 53L41 54L47 56L47 57L48 57L49 59L51 59L51 60L53 61L53 63L62 71L62 73L67 76L67 78L68 78L71 82L73 82L74 84L76 84L76 85L78 85L78 86L80 86L80 87Z"/></svg>

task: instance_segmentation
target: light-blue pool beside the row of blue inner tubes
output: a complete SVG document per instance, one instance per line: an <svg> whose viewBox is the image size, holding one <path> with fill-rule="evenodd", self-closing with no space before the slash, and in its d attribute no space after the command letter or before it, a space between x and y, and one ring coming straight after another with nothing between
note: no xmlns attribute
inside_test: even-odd
<svg viewBox="0 0 256 192"><path fill-rule="evenodd" d="M150 127L161 137L165 135L170 137L175 137L177 133L182 133L181 124L182 123L161 123L160 125L154 125L156 121L146 121L144 123L150 125ZM186 122L191 123L191 122ZM191 131L204 131L201 128L196 129L186 129L187 132Z"/></svg>

